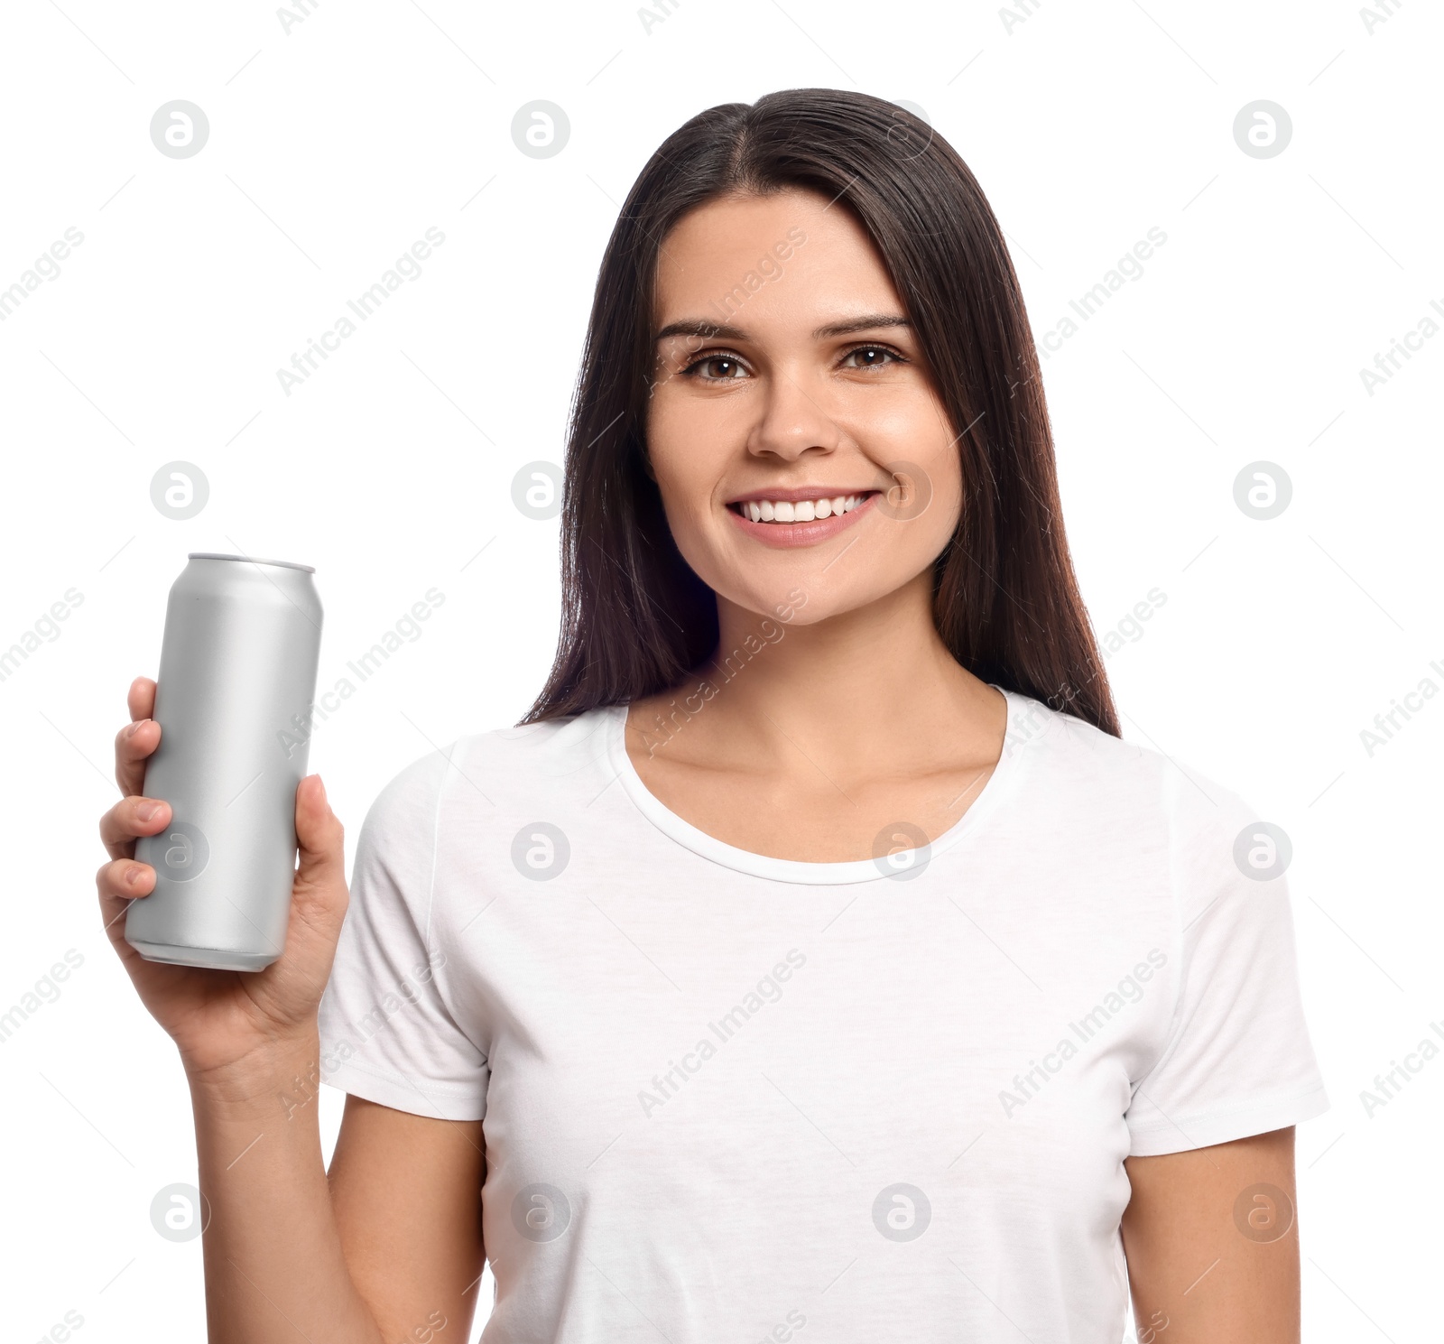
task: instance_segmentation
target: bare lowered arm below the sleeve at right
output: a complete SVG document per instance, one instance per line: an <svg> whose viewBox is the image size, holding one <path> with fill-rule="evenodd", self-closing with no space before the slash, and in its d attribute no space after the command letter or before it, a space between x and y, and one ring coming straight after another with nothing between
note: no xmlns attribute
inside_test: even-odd
<svg viewBox="0 0 1444 1344"><path fill-rule="evenodd" d="M1123 1166L1139 1344L1297 1344L1294 1130Z"/></svg>

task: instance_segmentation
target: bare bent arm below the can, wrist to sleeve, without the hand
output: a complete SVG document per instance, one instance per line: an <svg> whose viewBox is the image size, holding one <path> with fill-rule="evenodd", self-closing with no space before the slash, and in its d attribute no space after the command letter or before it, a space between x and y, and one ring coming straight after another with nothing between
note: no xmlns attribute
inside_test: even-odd
<svg viewBox="0 0 1444 1344"><path fill-rule="evenodd" d="M464 1344L481 1278L481 1122L347 1097L328 1178L316 1038L192 1077L211 1344Z"/></svg>

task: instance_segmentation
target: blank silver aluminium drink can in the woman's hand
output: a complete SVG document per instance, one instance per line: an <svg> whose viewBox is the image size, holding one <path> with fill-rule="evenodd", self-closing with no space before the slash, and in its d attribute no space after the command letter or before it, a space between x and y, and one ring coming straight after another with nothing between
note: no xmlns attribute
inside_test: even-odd
<svg viewBox="0 0 1444 1344"><path fill-rule="evenodd" d="M170 588L144 794L170 824L136 842L156 885L126 912L147 961L264 970L286 946L296 785L321 660L309 564L193 551Z"/></svg>

